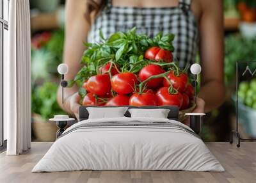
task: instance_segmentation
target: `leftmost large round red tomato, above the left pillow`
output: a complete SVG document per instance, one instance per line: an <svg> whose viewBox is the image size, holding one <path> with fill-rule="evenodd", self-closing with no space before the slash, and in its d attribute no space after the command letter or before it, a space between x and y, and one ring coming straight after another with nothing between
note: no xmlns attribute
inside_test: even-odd
<svg viewBox="0 0 256 183"><path fill-rule="evenodd" d="M109 93L111 91L109 74L98 74L90 77L87 81L87 89L99 96Z"/></svg>

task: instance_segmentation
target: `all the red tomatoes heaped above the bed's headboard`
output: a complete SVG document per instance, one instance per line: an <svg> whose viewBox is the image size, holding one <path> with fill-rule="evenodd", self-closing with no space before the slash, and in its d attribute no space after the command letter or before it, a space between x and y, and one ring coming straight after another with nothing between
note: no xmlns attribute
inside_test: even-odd
<svg viewBox="0 0 256 183"><path fill-rule="evenodd" d="M88 92L83 106L179 106L189 107L194 89L185 72L166 71L157 64L163 60L172 63L172 52L152 47L145 52L146 59L155 63L140 72L119 72L118 65L109 61L99 68L99 74L83 83Z"/></svg>

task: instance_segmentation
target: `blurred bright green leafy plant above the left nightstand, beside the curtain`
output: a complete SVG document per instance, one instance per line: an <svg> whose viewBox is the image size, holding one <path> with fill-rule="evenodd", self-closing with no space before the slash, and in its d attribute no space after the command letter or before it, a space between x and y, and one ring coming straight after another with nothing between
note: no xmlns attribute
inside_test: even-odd
<svg viewBox="0 0 256 183"><path fill-rule="evenodd" d="M56 114L65 114L56 101L58 84L45 82L32 90L32 112L48 120Z"/></svg>

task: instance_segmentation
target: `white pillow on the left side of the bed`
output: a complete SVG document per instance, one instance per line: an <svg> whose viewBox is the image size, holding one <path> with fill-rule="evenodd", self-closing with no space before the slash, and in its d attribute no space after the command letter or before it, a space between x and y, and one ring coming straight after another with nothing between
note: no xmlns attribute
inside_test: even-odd
<svg viewBox="0 0 256 183"><path fill-rule="evenodd" d="M125 117L124 114L128 107L86 107L89 113L89 119L96 118L120 118Z"/></svg>

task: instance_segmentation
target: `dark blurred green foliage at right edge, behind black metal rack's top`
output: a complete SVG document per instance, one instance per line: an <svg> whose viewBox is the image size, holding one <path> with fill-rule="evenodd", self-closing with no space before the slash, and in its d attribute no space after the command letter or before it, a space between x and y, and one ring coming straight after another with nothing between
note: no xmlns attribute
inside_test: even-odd
<svg viewBox="0 0 256 183"><path fill-rule="evenodd" d="M225 38L225 82L230 83L236 77L236 61L256 60L256 37L243 38L230 35Z"/></svg>

